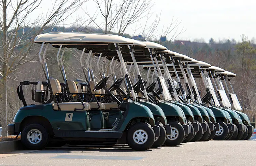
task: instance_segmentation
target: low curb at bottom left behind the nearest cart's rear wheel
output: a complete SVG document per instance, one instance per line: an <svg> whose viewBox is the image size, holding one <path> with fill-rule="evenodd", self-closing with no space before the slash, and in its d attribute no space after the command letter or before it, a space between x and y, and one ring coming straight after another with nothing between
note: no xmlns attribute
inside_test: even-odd
<svg viewBox="0 0 256 166"><path fill-rule="evenodd" d="M22 149L20 140L0 142L0 154Z"/></svg>

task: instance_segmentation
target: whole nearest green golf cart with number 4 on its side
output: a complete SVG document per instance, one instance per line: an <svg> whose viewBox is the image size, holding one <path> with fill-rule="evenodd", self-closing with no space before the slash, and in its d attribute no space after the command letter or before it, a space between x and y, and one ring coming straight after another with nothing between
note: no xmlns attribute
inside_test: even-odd
<svg viewBox="0 0 256 166"><path fill-rule="evenodd" d="M67 44L75 45L75 48L80 45L83 48L112 49L116 51L121 63L124 64L120 45L133 44L132 41L117 35L51 32L38 35L34 42L42 44L39 58L46 81L20 83L17 92L24 107L21 107L16 113L14 123L8 125L10 135L18 135L21 132L21 142L28 149L42 149L51 140L128 143L134 150L147 150L153 145L155 137L160 135L160 129L155 126L154 116L148 107L132 100L120 103L115 96L112 96L122 113L122 117L116 119L112 129L106 129L102 125L100 116L98 119L91 119L91 114L94 111L103 114L101 111L104 109L105 103L99 103L97 100L93 103L83 102L81 98L83 94L77 92L77 86L72 80L67 80L68 84L73 85L73 89L69 89L70 93L61 92L59 81L49 77L45 58L49 44ZM44 46L42 59L41 54ZM124 71L127 71L124 65L122 67ZM93 89L104 88L107 79L108 77L105 77ZM127 79L129 79L128 75ZM24 85L32 85L32 95L34 96L32 99L37 103L36 105L27 105L22 88ZM49 99L46 96L48 91ZM109 93L108 90L106 91ZM134 92L132 90L131 92L135 98ZM96 98L94 94L90 95ZM74 96L79 100L74 101ZM65 102L62 102L63 100ZM92 127L91 124L94 123L98 123L97 126L101 127Z"/></svg>

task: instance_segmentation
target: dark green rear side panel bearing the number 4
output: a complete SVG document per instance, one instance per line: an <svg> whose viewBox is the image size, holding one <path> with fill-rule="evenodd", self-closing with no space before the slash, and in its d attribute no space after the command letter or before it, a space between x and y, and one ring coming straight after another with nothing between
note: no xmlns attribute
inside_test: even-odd
<svg viewBox="0 0 256 166"><path fill-rule="evenodd" d="M52 104L41 106L42 109L22 107L16 113L13 122L21 123L28 116L42 116L48 119L53 130L88 130L89 128L87 111L55 111Z"/></svg>

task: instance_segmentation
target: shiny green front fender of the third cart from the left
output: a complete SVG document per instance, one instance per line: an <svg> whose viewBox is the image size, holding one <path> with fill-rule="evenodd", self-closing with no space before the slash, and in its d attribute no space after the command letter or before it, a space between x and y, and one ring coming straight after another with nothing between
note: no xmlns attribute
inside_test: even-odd
<svg viewBox="0 0 256 166"><path fill-rule="evenodd" d="M159 102L158 105L161 107L166 117L176 116L176 117L179 117L181 123L187 123L185 114L180 107L174 105L173 103L167 103L167 102Z"/></svg>

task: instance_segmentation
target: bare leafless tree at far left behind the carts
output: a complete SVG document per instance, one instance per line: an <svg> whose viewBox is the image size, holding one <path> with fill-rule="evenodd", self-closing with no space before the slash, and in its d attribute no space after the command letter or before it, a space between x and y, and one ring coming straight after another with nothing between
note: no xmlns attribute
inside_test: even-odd
<svg viewBox="0 0 256 166"><path fill-rule="evenodd" d="M53 25L65 21L83 0L52 1L46 15L40 15L34 21L31 15L42 5L42 0L2 0L0 3L0 116L2 135L7 135L7 105L9 75L16 72L20 65L30 62L35 55L33 39Z"/></svg>

